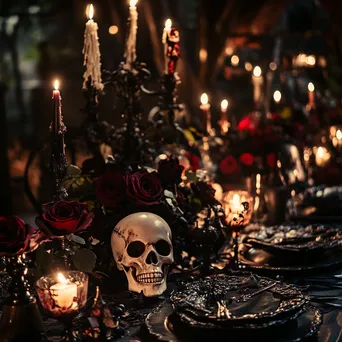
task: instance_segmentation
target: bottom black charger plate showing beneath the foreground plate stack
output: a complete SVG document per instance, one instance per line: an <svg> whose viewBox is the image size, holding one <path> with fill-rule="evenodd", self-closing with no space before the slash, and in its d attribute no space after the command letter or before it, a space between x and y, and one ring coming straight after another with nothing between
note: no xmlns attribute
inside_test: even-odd
<svg viewBox="0 0 342 342"><path fill-rule="evenodd" d="M148 333L157 341L191 342L203 341L210 337L212 340L218 341L220 337L224 338L221 334L225 335L225 340L244 340L239 333L234 336L236 329L226 329L222 332L222 330L218 331L216 327L215 329L206 330L191 329L190 327L182 326L182 324L177 328L178 323L177 317L173 314L170 301L166 301L154 309L145 319ZM273 334L270 333L269 329L264 331L252 329L249 333L245 330L245 334L249 335L249 339L257 340L256 338L260 333L260 340L265 342L299 342L315 337L321 324L321 312L311 305L306 305L299 317L294 322L291 322L290 325L286 325L284 329L277 327ZM247 337L247 335L244 336Z"/></svg>

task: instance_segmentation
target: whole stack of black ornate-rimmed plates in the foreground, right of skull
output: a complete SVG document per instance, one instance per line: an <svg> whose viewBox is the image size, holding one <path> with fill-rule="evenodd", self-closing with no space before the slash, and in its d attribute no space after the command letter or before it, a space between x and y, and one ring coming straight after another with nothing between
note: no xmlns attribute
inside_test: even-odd
<svg viewBox="0 0 342 342"><path fill-rule="evenodd" d="M293 285L251 274L215 275L185 284L146 319L162 341L301 341L321 314Z"/></svg>

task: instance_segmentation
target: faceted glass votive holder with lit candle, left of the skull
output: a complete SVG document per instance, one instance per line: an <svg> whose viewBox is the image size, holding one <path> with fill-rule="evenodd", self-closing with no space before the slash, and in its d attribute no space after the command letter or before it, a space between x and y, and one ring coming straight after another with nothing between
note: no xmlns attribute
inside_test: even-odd
<svg viewBox="0 0 342 342"><path fill-rule="evenodd" d="M87 303L88 276L79 271L55 273L36 282L38 298L50 316L76 315Z"/></svg>

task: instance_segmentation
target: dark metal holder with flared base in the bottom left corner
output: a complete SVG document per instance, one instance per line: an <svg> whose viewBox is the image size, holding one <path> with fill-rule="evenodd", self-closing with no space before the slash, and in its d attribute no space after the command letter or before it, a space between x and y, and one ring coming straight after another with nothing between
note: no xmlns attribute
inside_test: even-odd
<svg viewBox="0 0 342 342"><path fill-rule="evenodd" d="M40 341L44 326L36 299L31 295L26 279L27 260L24 254L6 258L6 270L11 277L0 321L0 341Z"/></svg>

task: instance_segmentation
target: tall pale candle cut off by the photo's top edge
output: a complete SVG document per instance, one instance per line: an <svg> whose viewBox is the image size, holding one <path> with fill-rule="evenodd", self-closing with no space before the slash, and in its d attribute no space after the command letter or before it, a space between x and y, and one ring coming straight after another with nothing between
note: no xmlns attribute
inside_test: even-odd
<svg viewBox="0 0 342 342"><path fill-rule="evenodd" d="M137 45L137 31L138 31L138 11L137 11L138 0L130 0L129 2L129 19L128 26L129 31L126 39L126 68L128 70L132 69L132 64L137 59L136 45Z"/></svg>

